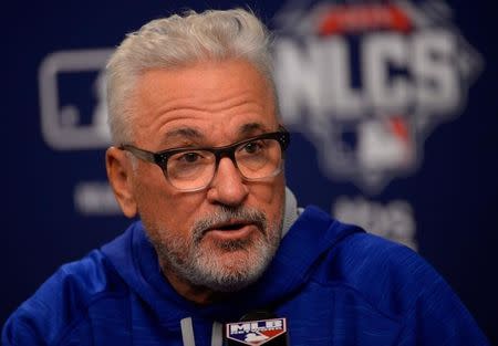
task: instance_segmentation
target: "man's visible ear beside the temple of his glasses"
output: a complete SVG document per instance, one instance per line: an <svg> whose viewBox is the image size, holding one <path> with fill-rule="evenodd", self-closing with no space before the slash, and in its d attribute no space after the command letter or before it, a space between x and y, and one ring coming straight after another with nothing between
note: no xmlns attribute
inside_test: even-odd
<svg viewBox="0 0 498 346"><path fill-rule="evenodd" d="M105 168L121 210L128 218L135 217L137 207L132 181L133 167L126 153L116 147L108 148L105 151Z"/></svg>

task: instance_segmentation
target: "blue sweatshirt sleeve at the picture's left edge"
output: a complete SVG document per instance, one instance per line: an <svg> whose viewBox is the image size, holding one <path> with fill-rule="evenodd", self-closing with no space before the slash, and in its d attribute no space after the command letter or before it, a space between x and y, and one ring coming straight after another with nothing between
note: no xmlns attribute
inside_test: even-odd
<svg viewBox="0 0 498 346"><path fill-rule="evenodd" d="M1 345L80 345L89 338L89 306L107 286L102 255L93 251L61 266L6 322ZM85 332L86 331L86 332ZM74 344L74 335L84 335Z"/></svg>

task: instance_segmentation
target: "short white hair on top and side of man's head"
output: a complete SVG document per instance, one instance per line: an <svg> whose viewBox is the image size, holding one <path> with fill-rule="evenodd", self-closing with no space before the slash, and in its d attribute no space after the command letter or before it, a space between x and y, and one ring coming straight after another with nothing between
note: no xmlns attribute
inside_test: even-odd
<svg viewBox="0 0 498 346"><path fill-rule="evenodd" d="M106 69L113 143L133 138L131 99L137 77L147 70L183 67L206 60L242 59L261 72L274 93L269 44L267 28L253 13L242 9L188 11L153 20L128 34Z"/></svg>

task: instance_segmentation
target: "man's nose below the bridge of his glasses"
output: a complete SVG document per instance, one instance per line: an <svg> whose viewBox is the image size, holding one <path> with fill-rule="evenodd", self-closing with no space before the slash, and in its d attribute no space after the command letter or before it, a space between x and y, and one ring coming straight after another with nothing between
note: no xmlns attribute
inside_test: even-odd
<svg viewBox="0 0 498 346"><path fill-rule="evenodd" d="M234 161L228 157L221 158L216 176L208 187L209 202L237 207L246 200L248 192L248 187Z"/></svg>

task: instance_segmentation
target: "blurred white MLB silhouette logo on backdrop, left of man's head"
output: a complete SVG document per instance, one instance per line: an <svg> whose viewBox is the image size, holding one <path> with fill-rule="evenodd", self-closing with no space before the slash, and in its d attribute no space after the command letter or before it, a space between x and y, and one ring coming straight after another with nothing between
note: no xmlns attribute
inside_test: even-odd
<svg viewBox="0 0 498 346"><path fill-rule="evenodd" d="M41 63L41 132L52 149L98 149L110 144L102 71L113 51L60 51Z"/></svg>

